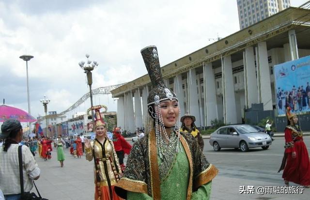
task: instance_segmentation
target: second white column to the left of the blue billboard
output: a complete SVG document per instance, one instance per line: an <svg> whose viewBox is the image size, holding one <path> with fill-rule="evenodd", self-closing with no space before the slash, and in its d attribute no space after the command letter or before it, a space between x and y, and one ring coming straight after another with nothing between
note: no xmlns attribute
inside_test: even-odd
<svg viewBox="0 0 310 200"><path fill-rule="evenodd" d="M243 52L243 64L246 107L250 108L252 104L258 103L253 46L248 46Z"/></svg>

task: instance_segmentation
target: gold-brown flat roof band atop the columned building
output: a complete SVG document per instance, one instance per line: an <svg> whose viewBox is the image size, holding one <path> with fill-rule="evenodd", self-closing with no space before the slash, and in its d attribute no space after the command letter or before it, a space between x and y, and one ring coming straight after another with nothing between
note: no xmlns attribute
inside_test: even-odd
<svg viewBox="0 0 310 200"><path fill-rule="evenodd" d="M285 9L163 66L162 76L164 79L175 77L209 62L213 62L213 67L216 68L221 65L220 58L228 55L232 56L232 62L242 60L243 50L246 47L255 46L263 41L267 42L267 49L283 47L283 44L288 43L287 31L292 29L296 32L298 48L309 48L310 10L295 7ZM112 90L112 97L123 96L125 92L137 88L141 89L150 82L146 74Z"/></svg>

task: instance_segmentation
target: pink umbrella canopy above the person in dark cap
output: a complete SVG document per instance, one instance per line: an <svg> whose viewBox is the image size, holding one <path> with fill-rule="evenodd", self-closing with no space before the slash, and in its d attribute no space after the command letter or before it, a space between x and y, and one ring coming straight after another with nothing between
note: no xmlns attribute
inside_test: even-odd
<svg viewBox="0 0 310 200"><path fill-rule="evenodd" d="M0 106L0 122L5 122L8 119L16 119L19 122L35 122L34 117L29 115L26 111L19 108L1 105Z"/></svg>

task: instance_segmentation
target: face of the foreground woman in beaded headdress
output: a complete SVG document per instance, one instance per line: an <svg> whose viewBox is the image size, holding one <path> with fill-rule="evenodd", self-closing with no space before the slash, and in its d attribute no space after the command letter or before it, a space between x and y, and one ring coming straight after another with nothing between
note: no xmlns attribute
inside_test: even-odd
<svg viewBox="0 0 310 200"><path fill-rule="evenodd" d="M175 125L179 117L179 103L177 100L167 100L160 103L160 112L163 117L163 123L167 127Z"/></svg>

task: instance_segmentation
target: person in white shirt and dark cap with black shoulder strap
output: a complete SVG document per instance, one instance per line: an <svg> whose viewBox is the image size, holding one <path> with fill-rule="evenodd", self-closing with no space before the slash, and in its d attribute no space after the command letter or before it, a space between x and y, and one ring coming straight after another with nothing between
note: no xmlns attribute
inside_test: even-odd
<svg viewBox="0 0 310 200"><path fill-rule="evenodd" d="M23 129L19 121L7 120L1 125L0 139L5 139L0 148L0 190L5 199L20 199L18 146L22 140ZM40 177L40 169L30 149L22 146L22 165L24 177L24 192L30 192L32 180Z"/></svg>

